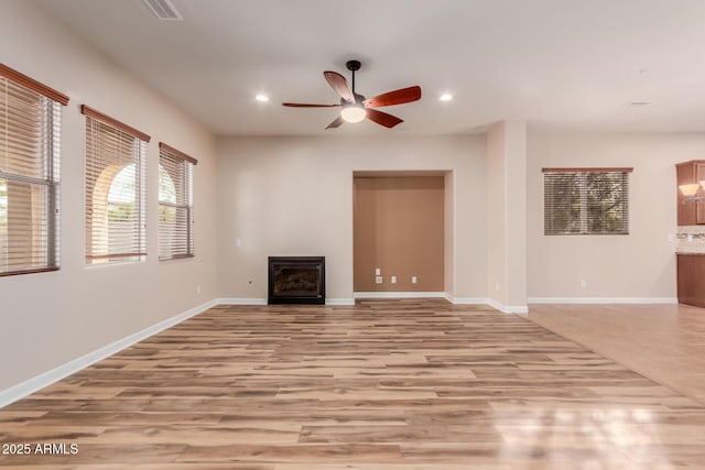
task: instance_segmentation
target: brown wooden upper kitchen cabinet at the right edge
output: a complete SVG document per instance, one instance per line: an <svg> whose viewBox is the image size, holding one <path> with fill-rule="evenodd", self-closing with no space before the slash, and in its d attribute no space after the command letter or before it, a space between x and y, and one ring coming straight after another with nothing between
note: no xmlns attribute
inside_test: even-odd
<svg viewBox="0 0 705 470"><path fill-rule="evenodd" d="M705 225L705 160L675 165L679 226Z"/></svg>

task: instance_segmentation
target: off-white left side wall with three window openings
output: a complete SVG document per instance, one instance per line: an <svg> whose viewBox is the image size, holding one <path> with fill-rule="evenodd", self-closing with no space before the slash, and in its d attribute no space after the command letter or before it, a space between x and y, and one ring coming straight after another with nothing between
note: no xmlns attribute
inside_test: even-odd
<svg viewBox="0 0 705 470"><path fill-rule="evenodd" d="M0 393L215 297L215 140L51 18L3 0L0 59L72 98L63 109L62 269L0 277ZM152 136L148 154L148 261L84 265L87 103ZM159 141L198 159L196 258L159 262ZM196 294L197 285L202 286Z"/></svg>

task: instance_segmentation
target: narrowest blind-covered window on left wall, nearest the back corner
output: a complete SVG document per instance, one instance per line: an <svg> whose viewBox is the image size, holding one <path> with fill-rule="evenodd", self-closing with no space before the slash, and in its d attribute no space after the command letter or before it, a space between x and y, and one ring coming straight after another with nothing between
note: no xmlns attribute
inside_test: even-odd
<svg viewBox="0 0 705 470"><path fill-rule="evenodd" d="M159 151L159 259L193 256L193 167L198 162L163 142Z"/></svg>

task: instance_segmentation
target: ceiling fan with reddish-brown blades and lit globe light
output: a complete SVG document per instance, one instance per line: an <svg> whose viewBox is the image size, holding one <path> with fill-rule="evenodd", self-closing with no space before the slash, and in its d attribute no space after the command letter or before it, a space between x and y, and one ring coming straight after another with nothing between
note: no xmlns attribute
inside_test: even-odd
<svg viewBox="0 0 705 470"><path fill-rule="evenodd" d="M348 86L345 77L337 72L324 72L328 85L340 95L339 105L311 105L301 102L282 102L282 106L292 108L341 108L340 116L330 122L326 129L340 127L344 122L360 122L365 118L377 122L386 128L393 128L400 122L404 122L395 116L388 114L376 108L383 106L403 105L421 99L421 87L414 86L377 95L373 98L365 98L355 92L355 73L360 69L359 61L348 61L345 66L352 73L352 88Z"/></svg>

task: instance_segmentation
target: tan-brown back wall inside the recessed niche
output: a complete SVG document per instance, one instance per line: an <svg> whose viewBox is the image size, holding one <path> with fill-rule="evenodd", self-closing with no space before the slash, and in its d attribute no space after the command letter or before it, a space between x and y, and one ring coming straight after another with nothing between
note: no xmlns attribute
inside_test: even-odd
<svg viewBox="0 0 705 470"><path fill-rule="evenodd" d="M354 192L355 292L443 292L444 176L356 177Z"/></svg>

